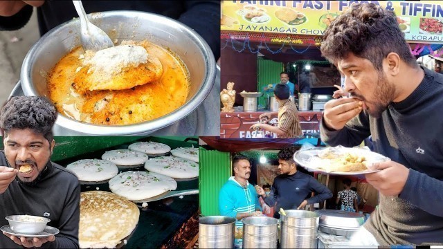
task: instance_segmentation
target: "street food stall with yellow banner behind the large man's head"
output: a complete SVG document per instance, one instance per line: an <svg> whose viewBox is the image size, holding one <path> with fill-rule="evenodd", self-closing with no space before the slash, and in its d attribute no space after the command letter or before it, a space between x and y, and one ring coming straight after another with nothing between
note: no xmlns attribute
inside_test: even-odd
<svg viewBox="0 0 443 249"><path fill-rule="evenodd" d="M234 84L233 111L221 111L222 138L275 138L257 136L249 128L261 122L261 113L276 111L272 90L280 73L295 84L293 101L303 133L318 133L323 105L341 85L341 75L320 53L329 24L347 9L347 1L223 1L221 3L221 89ZM437 51L442 44L440 7L431 1L377 1L394 10L397 22L416 57ZM426 7L426 8L424 8ZM433 10L432 12L428 11ZM438 10L438 11L437 11ZM440 12L439 12L440 11ZM433 24L433 25L431 25ZM302 91L308 82L309 92ZM254 93L254 96L246 96ZM300 94L298 94L300 93ZM251 100L255 98L255 100ZM251 107L251 102L255 105ZM247 105L246 107L246 104ZM271 120L269 120L271 121ZM278 124L278 120L269 123Z"/></svg>

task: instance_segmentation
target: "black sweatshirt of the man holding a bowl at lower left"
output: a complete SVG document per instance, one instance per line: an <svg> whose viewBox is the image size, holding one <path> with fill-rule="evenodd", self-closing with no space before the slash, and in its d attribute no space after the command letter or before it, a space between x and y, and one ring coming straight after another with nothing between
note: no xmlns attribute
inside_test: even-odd
<svg viewBox="0 0 443 249"><path fill-rule="evenodd" d="M0 165L9 165L0 151ZM55 241L46 242L42 248L78 248L80 222L80 183L77 176L64 167L49 162L40 174L43 178L29 186L12 181L0 194L0 226L8 225L4 217L13 214L45 216L48 225L58 228ZM0 248L23 248L0 234Z"/></svg>

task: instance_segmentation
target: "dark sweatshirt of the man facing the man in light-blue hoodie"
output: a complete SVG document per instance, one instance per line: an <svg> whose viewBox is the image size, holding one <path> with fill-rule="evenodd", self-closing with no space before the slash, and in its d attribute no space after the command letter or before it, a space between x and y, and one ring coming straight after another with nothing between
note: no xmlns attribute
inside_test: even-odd
<svg viewBox="0 0 443 249"><path fill-rule="evenodd" d="M307 199L311 192L316 195ZM271 187L271 193L264 198L264 203L269 206L277 203L274 213L275 218L279 218L278 210L296 210L298 206L307 201L307 204L319 203L332 197L332 192L325 185L318 183L314 177L302 172L292 175L280 175L275 177Z"/></svg>

